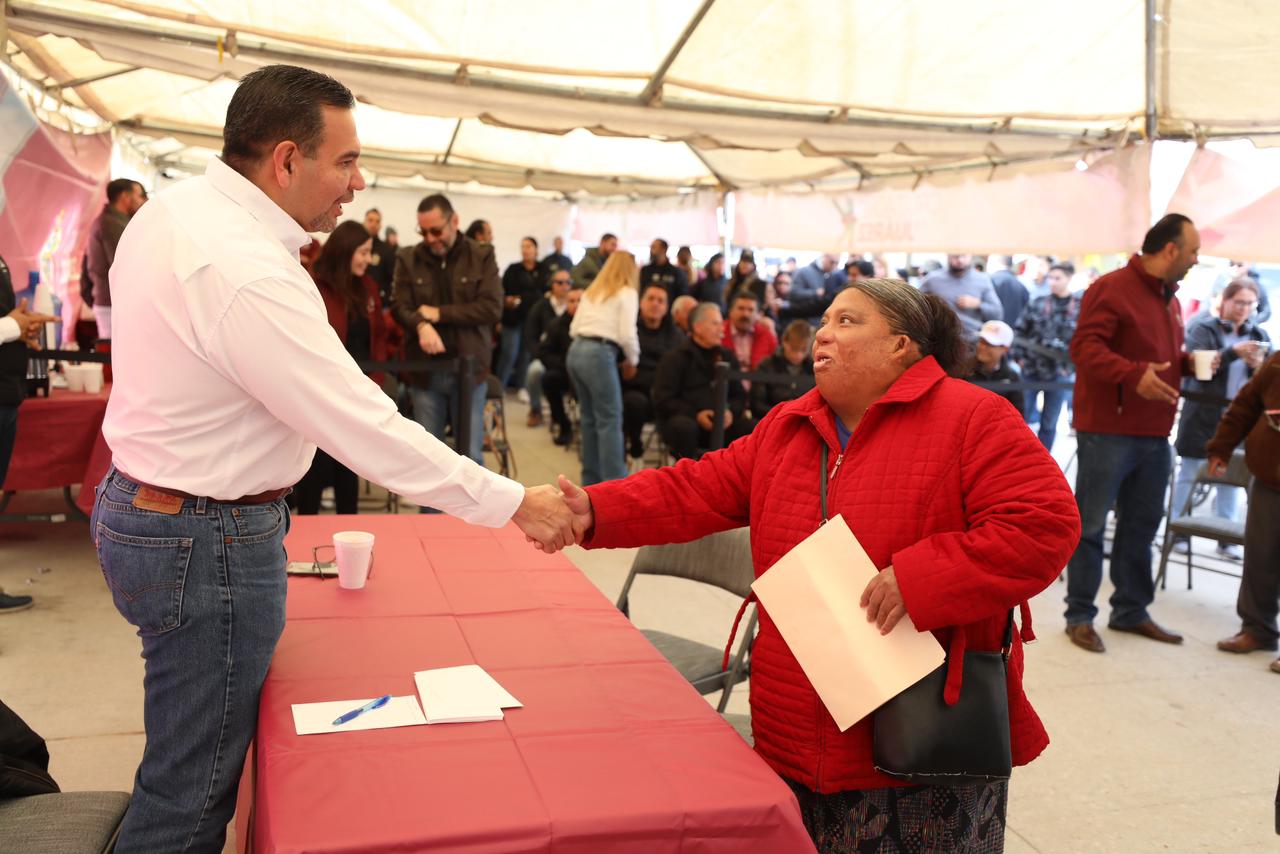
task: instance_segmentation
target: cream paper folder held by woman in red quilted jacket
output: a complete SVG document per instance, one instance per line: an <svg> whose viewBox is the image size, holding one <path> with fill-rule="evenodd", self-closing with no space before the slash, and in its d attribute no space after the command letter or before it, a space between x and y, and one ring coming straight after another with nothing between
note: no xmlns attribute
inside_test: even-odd
<svg viewBox="0 0 1280 854"><path fill-rule="evenodd" d="M920 681L946 654L910 616L887 635L859 607L876 566L836 516L751 585L841 731Z"/></svg>

